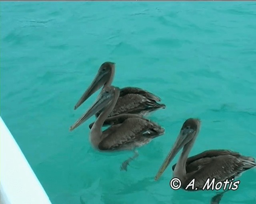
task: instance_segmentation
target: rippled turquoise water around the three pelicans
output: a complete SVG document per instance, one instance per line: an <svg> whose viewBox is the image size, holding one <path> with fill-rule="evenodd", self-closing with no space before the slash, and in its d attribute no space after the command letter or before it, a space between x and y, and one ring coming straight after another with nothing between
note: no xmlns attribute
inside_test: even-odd
<svg viewBox="0 0 256 204"><path fill-rule="evenodd" d="M113 85L166 104L149 116L165 135L131 152L99 153L74 105L104 61ZM208 204L215 192L174 191L169 167L154 181L183 122L200 118L190 155L231 149L256 157L255 2L1 2L1 117L53 204ZM177 157L172 162L176 163ZM256 203L256 171L224 204ZM29 196L29 195L28 195Z"/></svg>

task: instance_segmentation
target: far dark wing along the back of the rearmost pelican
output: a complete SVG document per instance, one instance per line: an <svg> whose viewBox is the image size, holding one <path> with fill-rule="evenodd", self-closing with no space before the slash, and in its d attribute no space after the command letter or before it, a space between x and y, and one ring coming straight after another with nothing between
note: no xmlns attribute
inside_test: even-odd
<svg viewBox="0 0 256 204"><path fill-rule="evenodd" d="M154 101L161 101L161 99L156 96L155 94L152 94L146 90L143 90L141 88L137 88L137 87L125 87L125 88L122 88L120 90L120 96L125 96L126 94L140 94L150 100L154 100Z"/></svg>

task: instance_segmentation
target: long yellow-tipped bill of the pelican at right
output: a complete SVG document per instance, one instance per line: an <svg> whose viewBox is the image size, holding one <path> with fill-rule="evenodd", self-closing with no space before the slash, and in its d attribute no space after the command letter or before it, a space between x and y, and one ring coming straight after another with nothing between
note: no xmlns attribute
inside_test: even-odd
<svg viewBox="0 0 256 204"><path fill-rule="evenodd" d="M166 159L164 160L164 163L160 167L158 173L155 176L155 180L158 180L161 175L164 173L168 165L171 163L171 161L174 159L174 157L177 155L177 153L180 151L188 141L190 141L189 138L191 138L191 134L195 134L196 131L194 129L182 129L170 151L170 153L167 155Z"/></svg>

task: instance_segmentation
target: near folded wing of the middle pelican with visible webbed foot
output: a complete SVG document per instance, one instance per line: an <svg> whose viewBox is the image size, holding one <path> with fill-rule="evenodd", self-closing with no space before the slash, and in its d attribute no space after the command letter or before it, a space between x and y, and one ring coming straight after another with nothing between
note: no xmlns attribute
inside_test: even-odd
<svg viewBox="0 0 256 204"><path fill-rule="evenodd" d="M99 144L100 150L132 149L157 137L160 127L144 118L128 118Z"/></svg>

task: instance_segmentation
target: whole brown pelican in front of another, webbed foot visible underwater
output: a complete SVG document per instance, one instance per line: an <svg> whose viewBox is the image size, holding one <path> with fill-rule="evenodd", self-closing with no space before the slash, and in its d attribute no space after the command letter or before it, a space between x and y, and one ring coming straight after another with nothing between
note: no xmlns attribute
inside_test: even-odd
<svg viewBox="0 0 256 204"><path fill-rule="evenodd" d="M164 128L136 114L120 114L107 118L116 105L119 93L120 90L117 87L104 87L98 100L70 127L70 131L96 112L103 110L91 126L90 131L90 142L99 151L135 151L136 147L146 145L153 138L164 134ZM102 126L108 125L111 126L102 131ZM135 155L122 164L121 170L127 170L129 162L137 156L138 153L135 151Z"/></svg>

